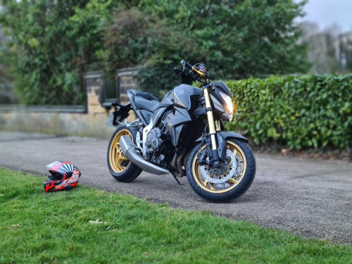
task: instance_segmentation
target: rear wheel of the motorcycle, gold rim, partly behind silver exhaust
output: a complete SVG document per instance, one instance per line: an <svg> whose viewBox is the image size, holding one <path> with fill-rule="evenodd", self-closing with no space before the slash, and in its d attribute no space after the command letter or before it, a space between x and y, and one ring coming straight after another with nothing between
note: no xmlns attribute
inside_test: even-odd
<svg viewBox="0 0 352 264"><path fill-rule="evenodd" d="M142 172L141 168L134 165L123 155L119 143L120 137L125 135L130 136L135 142L137 131L137 129L130 129L125 126L118 127L108 145L108 169L119 182L132 182Z"/></svg>

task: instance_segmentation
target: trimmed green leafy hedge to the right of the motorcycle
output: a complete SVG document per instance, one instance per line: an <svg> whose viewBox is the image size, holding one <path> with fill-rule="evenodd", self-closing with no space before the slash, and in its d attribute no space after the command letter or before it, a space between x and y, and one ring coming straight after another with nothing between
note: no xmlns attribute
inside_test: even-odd
<svg viewBox="0 0 352 264"><path fill-rule="evenodd" d="M303 75L229 81L235 108L228 130L257 145L289 149L352 146L352 75Z"/></svg>

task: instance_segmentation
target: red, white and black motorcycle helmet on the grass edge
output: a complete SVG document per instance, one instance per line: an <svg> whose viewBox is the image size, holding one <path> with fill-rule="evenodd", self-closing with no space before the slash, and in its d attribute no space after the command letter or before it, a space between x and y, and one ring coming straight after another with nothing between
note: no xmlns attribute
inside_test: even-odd
<svg viewBox="0 0 352 264"><path fill-rule="evenodd" d="M44 181L44 191L69 190L77 186L81 176L75 165L65 161L56 161L46 165L49 170L49 179Z"/></svg>

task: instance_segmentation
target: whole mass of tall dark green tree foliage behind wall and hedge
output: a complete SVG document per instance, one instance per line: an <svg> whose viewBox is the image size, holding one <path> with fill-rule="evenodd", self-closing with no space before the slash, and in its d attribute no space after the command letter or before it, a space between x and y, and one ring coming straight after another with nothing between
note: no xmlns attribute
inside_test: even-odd
<svg viewBox="0 0 352 264"><path fill-rule="evenodd" d="M162 95L182 59L212 78L308 70L294 18L304 1L4 1L15 85L24 103L82 103L83 73L141 66L140 88Z"/></svg>

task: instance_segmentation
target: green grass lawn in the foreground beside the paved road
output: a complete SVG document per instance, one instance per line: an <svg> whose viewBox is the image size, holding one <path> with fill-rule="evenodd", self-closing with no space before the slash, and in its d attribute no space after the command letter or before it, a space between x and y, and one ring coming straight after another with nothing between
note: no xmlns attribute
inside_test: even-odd
<svg viewBox="0 0 352 264"><path fill-rule="evenodd" d="M43 180L0 168L0 263L351 263L349 246Z"/></svg>

